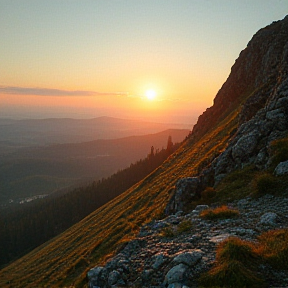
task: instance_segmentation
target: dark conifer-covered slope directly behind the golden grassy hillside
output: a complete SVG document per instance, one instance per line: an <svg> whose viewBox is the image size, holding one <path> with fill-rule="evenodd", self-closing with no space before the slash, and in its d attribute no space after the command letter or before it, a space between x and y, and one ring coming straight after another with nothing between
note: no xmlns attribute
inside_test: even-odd
<svg viewBox="0 0 288 288"><path fill-rule="evenodd" d="M154 149L145 159L59 196L18 205L0 215L0 267L62 233L117 197L159 167L179 144L168 138L166 149Z"/></svg>

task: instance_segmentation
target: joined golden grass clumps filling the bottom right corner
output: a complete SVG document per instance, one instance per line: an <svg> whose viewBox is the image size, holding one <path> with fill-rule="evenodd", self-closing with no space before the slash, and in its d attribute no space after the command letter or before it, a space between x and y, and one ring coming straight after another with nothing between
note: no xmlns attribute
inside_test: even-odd
<svg viewBox="0 0 288 288"><path fill-rule="evenodd" d="M288 269L288 229L262 233L257 243L230 237L218 245L214 267L200 277L204 287L266 287L260 264Z"/></svg>

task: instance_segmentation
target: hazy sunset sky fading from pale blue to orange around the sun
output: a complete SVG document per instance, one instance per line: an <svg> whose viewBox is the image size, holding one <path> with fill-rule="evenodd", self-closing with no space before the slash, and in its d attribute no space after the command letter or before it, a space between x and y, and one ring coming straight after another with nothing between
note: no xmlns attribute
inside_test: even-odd
<svg viewBox="0 0 288 288"><path fill-rule="evenodd" d="M286 14L288 0L0 0L0 117L193 123Z"/></svg>

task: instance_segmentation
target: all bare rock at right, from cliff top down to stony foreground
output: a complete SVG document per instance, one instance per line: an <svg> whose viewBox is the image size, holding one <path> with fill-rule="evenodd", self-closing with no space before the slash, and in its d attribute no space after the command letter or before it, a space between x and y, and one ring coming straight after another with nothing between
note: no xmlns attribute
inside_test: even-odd
<svg viewBox="0 0 288 288"><path fill-rule="evenodd" d="M254 170L270 171L271 175L288 174L288 158L275 162L271 148L273 141L288 135L288 16L253 36L188 141L193 145L230 113L237 113L237 125L225 149L196 177L179 179L166 207L166 218L143 226L119 254L88 272L90 288L199 287L198 279L217 261L216 245L223 239L237 236L255 242L265 231L287 229L287 187L281 190L286 194L257 199L246 195L227 203L238 211L236 220L204 219L201 211L209 207L198 205L191 210L190 204L201 199L207 187L217 188L235 170L253 165ZM263 282L258 286L253 282L255 287L287 287L287 270L275 270L267 263L257 269L256 276L261 274ZM227 287L244 287L236 284Z"/></svg>

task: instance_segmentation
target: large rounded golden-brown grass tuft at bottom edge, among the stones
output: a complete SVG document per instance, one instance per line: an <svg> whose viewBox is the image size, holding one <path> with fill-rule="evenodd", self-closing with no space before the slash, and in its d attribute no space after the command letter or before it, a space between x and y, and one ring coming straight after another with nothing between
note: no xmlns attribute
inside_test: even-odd
<svg viewBox="0 0 288 288"><path fill-rule="evenodd" d="M200 277L200 283L205 287L264 287L257 263L253 245L231 237L218 246L216 265Z"/></svg>

